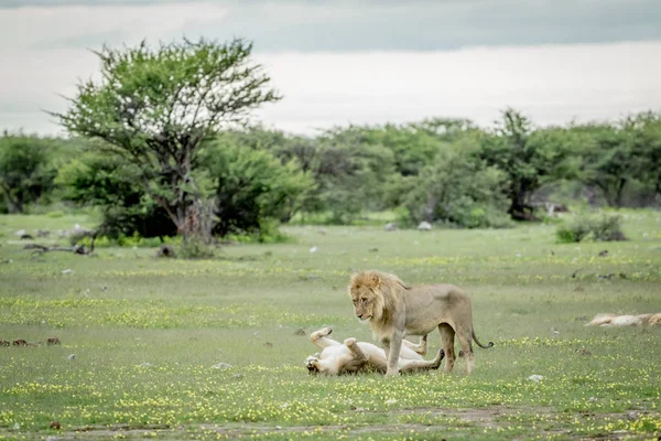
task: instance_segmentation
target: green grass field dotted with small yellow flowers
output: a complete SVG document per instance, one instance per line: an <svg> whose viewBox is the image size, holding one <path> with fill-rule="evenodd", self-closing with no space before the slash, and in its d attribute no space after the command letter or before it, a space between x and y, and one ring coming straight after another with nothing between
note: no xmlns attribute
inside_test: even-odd
<svg viewBox="0 0 661 441"><path fill-rule="evenodd" d="M585 326L661 312L659 212L627 212L624 243L559 245L553 225L296 226L291 244L197 261L149 248L31 256L14 235L74 222L91 226L0 217L0 340L62 342L0 347L0 439L661 435L661 329ZM476 333L496 345L476 349L470 377L463 359L449 375L307 375L312 331L371 341L346 294L351 270L371 268L472 292ZM430 343L433 354L437 334Z"/></svg>

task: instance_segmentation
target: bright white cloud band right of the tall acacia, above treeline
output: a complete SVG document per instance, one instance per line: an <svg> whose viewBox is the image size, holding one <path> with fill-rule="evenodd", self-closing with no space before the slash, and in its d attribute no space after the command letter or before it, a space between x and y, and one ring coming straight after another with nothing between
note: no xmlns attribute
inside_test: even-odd
<svg viewBox="0 0 661 441"><path fill-rule="evenodd" d="M261 55L285 99L259 112L291 131L465 117L507 106L540 125L661 110L661 43L455 52Z"/></svg>

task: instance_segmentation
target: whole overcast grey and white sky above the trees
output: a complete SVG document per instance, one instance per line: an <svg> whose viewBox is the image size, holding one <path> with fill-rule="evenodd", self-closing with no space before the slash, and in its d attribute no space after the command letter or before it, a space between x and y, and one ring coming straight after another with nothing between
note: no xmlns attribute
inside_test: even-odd
<svg viewBox="0 0 661 441"><path fill-rule="evenodd" d="M359 6L358 6L359 4ZM57 132L89 49L204 35L254 42L284 95L267 125L466 117L540 125L661 110L659 0L0 0L0 128Z"/></svg>

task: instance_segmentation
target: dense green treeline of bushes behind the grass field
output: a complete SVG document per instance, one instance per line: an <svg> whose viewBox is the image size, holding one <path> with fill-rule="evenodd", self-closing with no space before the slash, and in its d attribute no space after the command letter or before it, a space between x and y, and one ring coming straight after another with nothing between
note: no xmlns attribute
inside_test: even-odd
<svg viewBox="0 0 661 441"><path fill-rule="evenodd" d="M4 132L0 213L94 206L108 235L176 234L165 208L138 185L139 166L100 142ZM503 227L539 218L548 201L659 206L661 114L535 128L508 109L490 128L426 119L315 137L252 127L205 140L197 161L218 236L260 234L295 216L345 224L383 209L403 224Z"/></svg>

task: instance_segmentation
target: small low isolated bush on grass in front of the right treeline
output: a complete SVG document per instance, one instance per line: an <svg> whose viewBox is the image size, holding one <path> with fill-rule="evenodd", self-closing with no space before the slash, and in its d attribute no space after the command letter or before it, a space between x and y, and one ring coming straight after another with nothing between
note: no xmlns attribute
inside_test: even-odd
<svg viewBox="0 0 661 441"><path fill-rule="evenodd" d="M555 229L559 244L575 244L592 236L594 240L626 240L621 232L619 215L602 214L600 216L582 213L568 223L563 223Z"/></svg>

